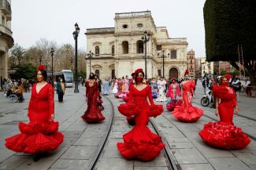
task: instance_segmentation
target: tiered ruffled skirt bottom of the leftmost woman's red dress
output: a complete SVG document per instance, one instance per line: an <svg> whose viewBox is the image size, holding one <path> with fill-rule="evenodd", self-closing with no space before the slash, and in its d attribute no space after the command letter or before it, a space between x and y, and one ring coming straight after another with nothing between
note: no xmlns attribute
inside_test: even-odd
<svg viewBox="0 0 256 170"><path fill-rule="evenodd" d="M34 154L54 150L63 142L63 135L58 132L58 122L31 121L20 122L20 134L6 139L6 147L15 152Z"/></svg>

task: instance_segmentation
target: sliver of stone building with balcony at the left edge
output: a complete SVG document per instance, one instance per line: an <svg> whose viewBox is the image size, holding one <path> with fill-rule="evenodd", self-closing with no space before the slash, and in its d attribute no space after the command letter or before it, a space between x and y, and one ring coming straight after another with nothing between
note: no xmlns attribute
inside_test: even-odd
<svg viewBox="0 0 256 170"><path fill-rule="evenodd" d="M0 0L0 78L8 77L8 50L13 47L10 3L10 0Z"/></svg>

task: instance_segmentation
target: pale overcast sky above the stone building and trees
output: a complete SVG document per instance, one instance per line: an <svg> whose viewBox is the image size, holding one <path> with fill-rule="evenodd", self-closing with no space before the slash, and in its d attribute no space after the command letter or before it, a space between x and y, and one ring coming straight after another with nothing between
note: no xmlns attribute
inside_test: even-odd
<svg viewBox="0 0 256 170"><path fill-rule="evenodd" d="M28 48L40 38L58 45L74 44L72 31L80 26L79 49L86 50L87 28L114 27L114 13L150 10L157 27L171 38L187 38L188 50L205 56L202 8L206 0L12 0L12 31L16 43Z"/></svg>

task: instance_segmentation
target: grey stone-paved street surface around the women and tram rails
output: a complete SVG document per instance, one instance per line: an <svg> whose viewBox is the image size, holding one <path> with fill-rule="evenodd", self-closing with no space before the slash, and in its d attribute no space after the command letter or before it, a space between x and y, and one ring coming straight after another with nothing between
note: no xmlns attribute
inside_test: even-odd
<svg viewBox="0 0 256 170"><path fill-rule="evenodd" d="M106 121L96 125L87 125L80 119L87 107L84 103L83 90L80 87L80 93L74 94L73 89L68 89L64 96L64 103L58 103L58 97L55 96L56 120L60 122L60 130L64 133L65 140L58 150L50 152L38 162L32 161L32 156L29 154L17 154L7 150L4 146L6 137L17 134L17 123L28 121L26 114L30 94L24 95L26 98L24 103L13 103L0 93L0 169L87 169L109 122L110 105L104 100L103 114L106 116ZM189 170L256 169L256 142L254 139L243 150L217 150L202 142L198 132L205 123L213 121L212 118L216 117L213 109L202 107L198 103L202 97L201 93L202 86L198 85L195 106L205 110L205 115L198 122L187 124L176 121L171 112L167 110L158 118L152 119L164 134L162 137L167 140L168 148L173 152L180 167ZM122 141L122 135L124 132L130 131L132 126L128 125L124 116L118 113L117 106L121 103L121 99L114 99L113 95L108 98L114 106L114 123L97 169L168 169L163 154L150 162L128 161L119 154L116 144ZM254 102L254 98L247 99L241 95L240 114L253 117L256 114L256 110L253 108ZM163 104L165 105L165 103ZM254 132L256 122L253 119L239 116L235 116L234 119L235 124L243 128L243 132L256 137ZM150 128L152 129L152 127Z"/></svg>

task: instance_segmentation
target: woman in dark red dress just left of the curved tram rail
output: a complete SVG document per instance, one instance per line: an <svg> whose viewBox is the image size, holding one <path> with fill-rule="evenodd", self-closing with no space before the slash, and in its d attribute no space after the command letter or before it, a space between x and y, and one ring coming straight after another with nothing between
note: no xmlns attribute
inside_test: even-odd
<svg viewBox="0 0 256 170"><path fill-rule="evenodd" d="M95 74L91 73L89 80L85 83L87 110L84 112L83 118L87 123L98 123L103 121L105 117L102 115L101 109L98 108L98 83L95 81Z"/></svg>

